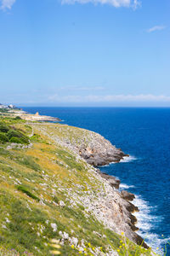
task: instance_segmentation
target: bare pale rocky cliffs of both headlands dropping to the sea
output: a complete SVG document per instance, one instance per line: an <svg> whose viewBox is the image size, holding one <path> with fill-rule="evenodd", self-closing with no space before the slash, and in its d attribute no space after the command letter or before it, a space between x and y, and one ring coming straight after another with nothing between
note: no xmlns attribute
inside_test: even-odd
<svg viewBox="0 0 170 256"><path fill-rule="evenodd" d="M48 128L51 127L48 125ZM49 136L49 130L46 130L45 125L37 125L37 129ZM111 230L118 234L123 232L131 241L148 248L144 239L135 232L139 230L135 226L138 220L133 216L133 212L139 212L138 207L132 203L135 196L126 190L120 192L118 190L120 180L99 170L99 166L111 162L118 163L128 154L124 154L120 148L116 148L94 131L69 125L54 125L53 131L50 131L50 138L62 148L69 149L73 155L77 155L77 160L78 158L85 160L88 168L93 166L90 172L93 172L94 176L104 184L105 192L101 191L97 197L86 194L80 199L74 195L74 200L81 201L91 214Z"/></svg>

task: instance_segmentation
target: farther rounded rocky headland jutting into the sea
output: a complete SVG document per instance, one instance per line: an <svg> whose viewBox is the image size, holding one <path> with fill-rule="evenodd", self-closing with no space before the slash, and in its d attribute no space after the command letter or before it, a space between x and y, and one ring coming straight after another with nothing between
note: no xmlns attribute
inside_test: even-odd
<svg viewBox="0 0 170 256"><path fill-rule="evenodd" d="M119 162L124 154L120 148L94 131L78 129L68 125L55 125L54 141L70 148L93 166L105 166Z"/></svg>

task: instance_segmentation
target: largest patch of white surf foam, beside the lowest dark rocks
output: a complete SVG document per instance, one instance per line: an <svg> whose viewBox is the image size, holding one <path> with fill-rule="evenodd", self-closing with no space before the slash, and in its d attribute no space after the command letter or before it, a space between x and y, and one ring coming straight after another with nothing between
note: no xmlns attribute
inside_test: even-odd
<svg viewBox="0 0 170 256"><path fill-rule="evenodd" d="M138 219L136 226L139 228L137 233L144 238L144 241L159 255L163 255L161 247L166 244L168 239L158 236L151 232L155 224L161 223L162 218L151 215L155 207L150 207L147 201L144 201L140 195L135 195L133 204L139 207L139 212L134 212L133 215Z"/></svg>

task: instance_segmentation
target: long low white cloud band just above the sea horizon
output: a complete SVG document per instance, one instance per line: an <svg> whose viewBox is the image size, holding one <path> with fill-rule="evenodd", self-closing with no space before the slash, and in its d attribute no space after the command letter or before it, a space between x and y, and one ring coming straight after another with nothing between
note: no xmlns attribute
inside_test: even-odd
<svg viewBox="0 0 170 256"><path fill-rule="evenodd" d="M170 96L144 95L106 95L106 96L59 96L58 94L49 96L49 102L170 102Z"/></svg>

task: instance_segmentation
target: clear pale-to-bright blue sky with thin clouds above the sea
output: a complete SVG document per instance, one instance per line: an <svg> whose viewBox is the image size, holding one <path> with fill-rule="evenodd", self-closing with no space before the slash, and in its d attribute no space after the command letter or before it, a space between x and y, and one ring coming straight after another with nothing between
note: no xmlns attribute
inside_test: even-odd
<svg viewBox="0 0 170 256"><path fill-rule="evenodd" d="M169 0L0 6L0 102L170 107Z"/></svg>

